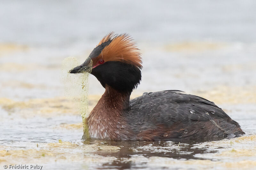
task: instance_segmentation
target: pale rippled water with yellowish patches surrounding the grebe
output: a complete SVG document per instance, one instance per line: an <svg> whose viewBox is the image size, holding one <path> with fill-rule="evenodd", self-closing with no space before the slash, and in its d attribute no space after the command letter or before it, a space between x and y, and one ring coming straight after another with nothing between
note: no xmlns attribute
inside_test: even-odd
<svg viewBox="0 0 256 170"><path fill-rule="evenodd" d="M255 168L255 1L0 4L0 169ZM77 58L70 66L83 63L111 31L130 33L141 49L142 81L132 97L166 89L205 97L246 135L212 142L82 140L81 83L63 81L61 65L70 56ZM89 76L89 110L103 92Z"/></svg>

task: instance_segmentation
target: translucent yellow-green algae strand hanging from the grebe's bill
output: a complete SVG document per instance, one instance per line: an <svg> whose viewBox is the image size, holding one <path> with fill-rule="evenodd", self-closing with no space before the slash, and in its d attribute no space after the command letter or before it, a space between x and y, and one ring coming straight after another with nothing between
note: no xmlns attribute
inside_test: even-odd
<svg viewBox="0 0 256 170"><path fill-rule="evenodd" d="M70 74L69 70L78 66L78 62L76 58L68 57L65 58L62 62L62 76L64 82L67 84L67 89L65 90L65 95L69 97L74 97L74 99L80 100L79 111L83 120L84 127L84 135L83 138L89 138L88 126L86 124L86 118L89 116L88 106L89 106L89 98L88 98L88 78L89 73L92 71L92 60L90 63L91 69L86 73L80 74Z"/></svg>

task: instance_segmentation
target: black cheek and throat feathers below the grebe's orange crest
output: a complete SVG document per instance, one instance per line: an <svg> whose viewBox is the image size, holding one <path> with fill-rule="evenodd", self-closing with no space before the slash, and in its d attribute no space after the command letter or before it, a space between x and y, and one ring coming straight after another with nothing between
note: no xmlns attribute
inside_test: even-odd
<svg viewBox="0 0 256 170"><path fill-rule="evenodd" d="M106 84L119 91L132 92L141 80L137 66L120 61L108 61L92 69L91 72L105 88Z"/></svg>

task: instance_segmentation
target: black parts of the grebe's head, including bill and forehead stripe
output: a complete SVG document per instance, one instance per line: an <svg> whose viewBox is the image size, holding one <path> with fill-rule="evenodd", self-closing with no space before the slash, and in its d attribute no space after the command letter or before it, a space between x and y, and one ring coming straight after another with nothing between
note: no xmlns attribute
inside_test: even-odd
<svg viewBox="0 0 256 170"><path fill-rule="evenodd" d="M88 72L94 75L104 88L107 84L119 91L132 92L133 89L137 88L141 80L141 72L137 66L120 61L107 61L92 69L92 59L98 57L111 41L108 40L94 48L85 62L70 70L69 73Z"/></svg>

